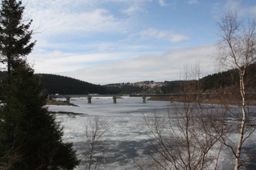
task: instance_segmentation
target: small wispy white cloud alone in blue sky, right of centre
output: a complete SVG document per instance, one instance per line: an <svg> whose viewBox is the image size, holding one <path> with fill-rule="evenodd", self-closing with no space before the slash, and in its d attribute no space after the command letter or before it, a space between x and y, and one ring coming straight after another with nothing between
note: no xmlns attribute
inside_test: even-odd
<svg viewBox="0 0 256 170"><path fill-rule="evenodd" d="M149 29L143 30L133 36L140 36L141 40L148 40L151 38L155 38L158 40L167 40L169 42L179 42L182 40L189 40L188 36L176 34L171 31L157 30L154 28L149 28Z"/></svg>

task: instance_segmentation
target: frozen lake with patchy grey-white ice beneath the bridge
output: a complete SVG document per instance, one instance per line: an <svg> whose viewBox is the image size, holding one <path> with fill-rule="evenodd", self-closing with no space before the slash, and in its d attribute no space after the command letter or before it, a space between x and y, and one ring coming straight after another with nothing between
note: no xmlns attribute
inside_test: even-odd
<svg viewBox="0 0 256 170"><path fill-rule="evenodd" d="M150 137L143 118L143 114L158 112L167 113L167 109L174 107L167 101L146 100L143 104L141 97L123 97L113 104L111 97L93 97L92 104L87 98L72 98L75 106L48 106L57 113L57 121L63 125L63 140L73 142L79 159L84 159L85 125L90 117L101 117L106 121L106 132L102 136L106 150L104 169L138 169L135 159L143 159L150 147ZM180 104L181 105L181 104ZM176 106L179 104L176 103ZM85 169L82 164L78 169Z"/></svg>

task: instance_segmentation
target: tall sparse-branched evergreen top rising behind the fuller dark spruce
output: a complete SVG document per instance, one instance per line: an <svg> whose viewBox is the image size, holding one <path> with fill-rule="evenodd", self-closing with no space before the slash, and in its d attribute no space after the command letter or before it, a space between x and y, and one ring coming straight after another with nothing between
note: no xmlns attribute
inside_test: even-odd
<svg viewBox="0 0 256 170"><path fill-rule="evenodd" d="M1 62L7 64L8 83L15 66L31 53L36 41L30 42L33 31L29 30L32 19L23 19L24 6L15 0L2 0L0 11L0 52Z"/></svg>

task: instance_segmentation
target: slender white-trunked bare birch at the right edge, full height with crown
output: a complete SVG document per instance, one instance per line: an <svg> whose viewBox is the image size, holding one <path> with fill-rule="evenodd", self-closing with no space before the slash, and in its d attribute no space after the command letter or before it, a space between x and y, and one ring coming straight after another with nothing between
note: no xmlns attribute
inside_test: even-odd
<svg viewBox="0 0 256 170"><path fill-rule="evenodd" d="M246 23L246 24L245 24ZM228 11L219 23L219 55L216 58L220 66L225 69L236 70L239 74L239 91L240 91L240 106L241 115L236 117L240 122L240 132L236 149L233 153L236 157L235 169L239 169L245 163L241 160L241 149L249 135L254 132L254 128L248 130L247 125L250 117L249 110L246 109L248 104L249 91L247 89L246 74L248 74L249 65L256 62L256 35L255 35L255 20L241 20L236 13Z"/></svg>

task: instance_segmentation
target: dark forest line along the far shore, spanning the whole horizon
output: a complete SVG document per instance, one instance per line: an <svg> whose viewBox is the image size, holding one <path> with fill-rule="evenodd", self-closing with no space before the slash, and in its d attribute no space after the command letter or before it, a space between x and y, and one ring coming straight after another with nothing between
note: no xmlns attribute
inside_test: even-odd
<svg viewBox="0 0 256 170"><path fill-rule="evenodd" d="M248 68L249 79L248 88L255 91L256 87L256 63L252 64ZM34 75L34 79L39 82L39 74ZM2 82L4 78L7 78L7 72L0 72ZM200 79L201 89L204 92L216 91L219 89L227 90L228 87L232 87L238 84L239 77L237 70L228 70L215 74L209 74ZM87 94L145 94L145 93L157 93L168 94L177 93L180 91L180 87L183 86L184 81L165 81L165 86L162 87L140 87L133 86L129 83L118 86L112 84L112 86L96 85L93 83L87 83L78 79L72 79L66 76L56 74L41 74L41 85L47 91L48 94L62 94L62 95L87 95Z"/></svg>

